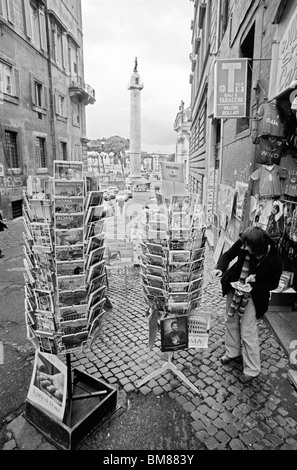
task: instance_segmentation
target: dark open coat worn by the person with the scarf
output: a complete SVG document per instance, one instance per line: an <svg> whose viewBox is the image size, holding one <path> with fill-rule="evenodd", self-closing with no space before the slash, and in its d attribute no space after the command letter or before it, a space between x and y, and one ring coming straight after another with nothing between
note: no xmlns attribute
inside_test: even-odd
<svg viewBox="0 0 297 470"><path fill-rule="evenodd" d="M239 280L246 251L242 248L243 242L239 238L229 250L220 256L216 269L223 273L221 278L223 296L232 289L231 282ZM232 260L237 260L228 269ZM261 318L268 310L270 291L278 287L283 271L282 259L273 241L270 241L270 250L263 260L251 255L249 274L256 274L256 281L251 282L253 287L251 296L256 309L256 317Z"/></svg>

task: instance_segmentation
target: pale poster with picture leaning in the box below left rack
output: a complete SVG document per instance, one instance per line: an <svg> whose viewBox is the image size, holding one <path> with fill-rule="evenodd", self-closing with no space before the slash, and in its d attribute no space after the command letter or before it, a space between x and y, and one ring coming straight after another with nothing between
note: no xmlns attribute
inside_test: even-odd
<svg viewBox="0 0 297 470"><path fill-rule="evenodd" d="M52 354L35 352L28 399L63 420L67 394L67 367Z"/></svg>

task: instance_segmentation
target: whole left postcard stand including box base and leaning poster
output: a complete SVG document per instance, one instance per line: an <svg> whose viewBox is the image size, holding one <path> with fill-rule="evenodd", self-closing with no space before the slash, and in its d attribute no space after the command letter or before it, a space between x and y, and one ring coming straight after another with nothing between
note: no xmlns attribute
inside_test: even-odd
<svg viewBox="0 0 297 470"><path fill-rule="evenodd" d="M105 313L103 195L86 191L82 162L54 161L54 177L32 182L23 199L25 317L36 348L25 417L71 449L116 408L116 389L71 366Z"/></svg>

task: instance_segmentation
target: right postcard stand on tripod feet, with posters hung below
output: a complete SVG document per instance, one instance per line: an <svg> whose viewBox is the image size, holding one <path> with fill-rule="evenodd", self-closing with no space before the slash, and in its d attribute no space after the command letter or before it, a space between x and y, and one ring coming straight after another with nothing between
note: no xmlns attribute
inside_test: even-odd
<svg viewBox="0 0 297 470"><path fill-rule="evenodd" d="M205 344L209 332L209 322L197 311L202 297L206 236L204 215L196 198L189 194L168 200L158 194L157 205L146 212L143 221L140 272L149 307L149 348L160 329L161 351L168 353L168 360L137 381L137 388L170 370L202 395L172 362L175 351L201 347L201 338ZM195 343L197 331L199 341Z"/></svg>

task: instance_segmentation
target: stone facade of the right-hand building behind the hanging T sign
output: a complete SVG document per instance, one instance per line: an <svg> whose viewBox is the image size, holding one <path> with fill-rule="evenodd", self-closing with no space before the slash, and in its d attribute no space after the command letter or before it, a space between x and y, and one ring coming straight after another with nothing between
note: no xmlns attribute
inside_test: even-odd
<svg viewBox="0 0 297 470"><path fill-rule="evenodd" d="M256 113L262 103L277 97L280 91L273 91L276 72L271 67L272 62L276 68L279 64L274 60L276 43L296 10L296 2L191 1L194 13L189 78L192 110L189 187L199 194L215 245L225 228L218 210L220 185L235 189L237 184L243 183L248 187L248 196L253 194L250 175L259 167L256 163L259 149L254 144L258 126ZM292 41L292 28L290 35L289 41ZM234 58L247 59L248 63L246 117L218 119L214 112L215 63ZM296 58L293 63L296 65ZM293 74L294 67L291 69ZM246 214L248 211L246 207ZM233 238L247 222L235 221Z"/></svg>

